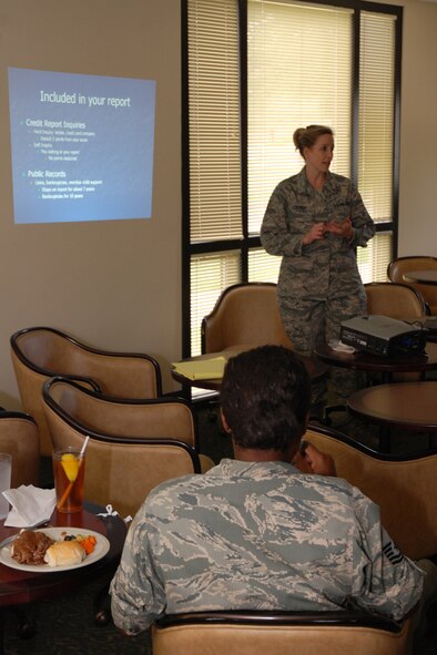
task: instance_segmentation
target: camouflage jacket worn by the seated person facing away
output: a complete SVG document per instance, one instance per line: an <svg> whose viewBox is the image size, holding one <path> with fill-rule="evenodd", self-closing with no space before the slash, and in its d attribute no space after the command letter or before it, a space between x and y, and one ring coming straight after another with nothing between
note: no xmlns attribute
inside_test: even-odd
<svg viewBox="0 0 437 655"><path fill-rule="evenodd" d="M399 618L421 585L420 570L382 528L378 506L345 480L225 459L144 501L111 583L112 614L128 634L164 612L202 610L352 603Z"/></svg>

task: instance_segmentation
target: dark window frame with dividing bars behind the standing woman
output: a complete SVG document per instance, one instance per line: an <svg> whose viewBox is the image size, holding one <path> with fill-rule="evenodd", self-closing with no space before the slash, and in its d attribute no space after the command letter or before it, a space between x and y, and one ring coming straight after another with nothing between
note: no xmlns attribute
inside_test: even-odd
<svg viewBox="0 0 437 655"><path fill-rule="evenodd" d="M220 254L237 250L241 256L241 282L248 279L248 252L262 247L260 236L250 236L247 224L247 0L236 0L238 12L240 116L242 158L242 238L191 243L190 238L190 123L189 123L189 1L181 0L182 37L182 356L191 356L191 258L193 255ZM220 1L220 0L216 0ZM338 7L353 10L353 99L350 178L357 185L358 175L358 113L359 113L359 47L360 12L395 16L394 52L394 134L393 134L393 215L390 221L376 223L376 233L393 234L393 257L397 256L399 212L399 149L400 149L400 83L403 47L403 7L368 2L367 0L305 0L308 4ZM201 329L201 326L199 326Z"/></svg>

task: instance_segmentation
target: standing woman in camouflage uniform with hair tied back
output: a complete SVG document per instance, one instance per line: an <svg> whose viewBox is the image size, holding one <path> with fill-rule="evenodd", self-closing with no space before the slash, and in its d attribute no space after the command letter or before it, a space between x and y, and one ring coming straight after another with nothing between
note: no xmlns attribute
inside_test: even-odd
<svg viewBox="0 0 437 655"><path fill-rule="evenodd" d="M261 240L268 254L283 257L277 285L282 320L295 349L309 356L317 344L338 340L343 320L366 314L355 249L366 246L375 225L352 182L329 172L331 127L299 127L293 141L305 166L274 190ZM356 386L347 373L334 371L337 399ZM323 393L316 391L316 403Z"/></svg>

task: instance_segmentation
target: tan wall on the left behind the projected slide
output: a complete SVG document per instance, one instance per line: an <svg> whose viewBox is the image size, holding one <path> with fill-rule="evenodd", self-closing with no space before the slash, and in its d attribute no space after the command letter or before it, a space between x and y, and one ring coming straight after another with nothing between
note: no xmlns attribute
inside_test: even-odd
<svg viewBox="0 0 437 655"><path fill-rule="evenodd" d="M149 352L172 388L181 355L180 1L0 0L0 406L20 407L10 335L48 325ZM8 66L156 80L152 218L13 225ZM120 162L122 165L122 162Z"/></svg>

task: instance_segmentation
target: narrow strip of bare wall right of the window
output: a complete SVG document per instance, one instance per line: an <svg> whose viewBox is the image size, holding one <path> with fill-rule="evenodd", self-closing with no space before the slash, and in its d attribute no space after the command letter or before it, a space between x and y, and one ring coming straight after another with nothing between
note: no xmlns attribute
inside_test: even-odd
<svg viewBox="0 0 437 655"><path fill-rule="evenodd" d="M437 3L404 9L399 255L437 256Z"/></svg>

